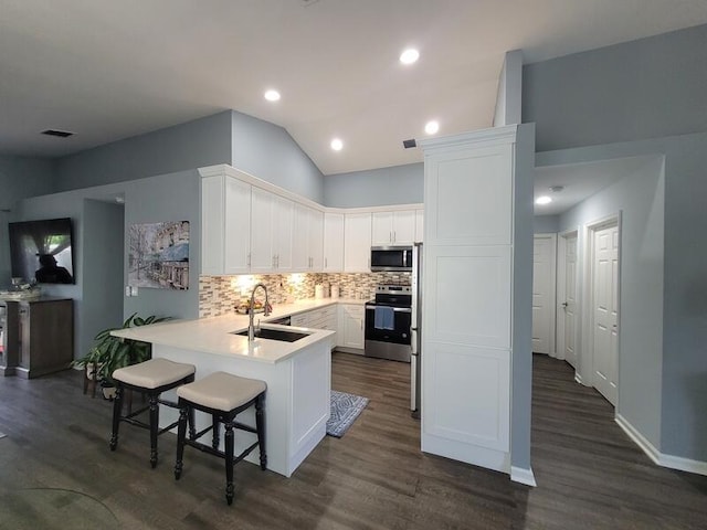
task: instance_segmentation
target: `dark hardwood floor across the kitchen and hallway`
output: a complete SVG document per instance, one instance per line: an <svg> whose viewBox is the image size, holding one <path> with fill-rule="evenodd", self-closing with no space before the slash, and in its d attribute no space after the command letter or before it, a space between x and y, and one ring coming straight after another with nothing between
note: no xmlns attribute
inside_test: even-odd
<svg viewBox="0 0 707 530"><path fill-rule="evenodd" d="M1 378L0 529L707 528L707 477L653 465L568 364L541 356L534 363L537 488L421 454L409 365L335 353L333 388L369 398L368 407L291 479L238 465L231 507L218 458L190 451L175 481L171 434L160 437L156 469L146 431L124 425L110 453L110 403L84 396L80 372ZM93 505L76 501L84 496ZM80 524L104 507L99 523Z"/></svg>

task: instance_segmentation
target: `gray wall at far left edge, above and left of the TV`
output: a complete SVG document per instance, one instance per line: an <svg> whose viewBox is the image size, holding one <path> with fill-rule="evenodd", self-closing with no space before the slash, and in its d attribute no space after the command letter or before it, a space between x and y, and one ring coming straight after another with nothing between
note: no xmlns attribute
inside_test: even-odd
<svg viewBox="0 0 707 530"><path fill-rule="evenodd" d="M0 288L10 284L8 223L17 218L17 202L55 190L51 160L0 157Z"/></svg>

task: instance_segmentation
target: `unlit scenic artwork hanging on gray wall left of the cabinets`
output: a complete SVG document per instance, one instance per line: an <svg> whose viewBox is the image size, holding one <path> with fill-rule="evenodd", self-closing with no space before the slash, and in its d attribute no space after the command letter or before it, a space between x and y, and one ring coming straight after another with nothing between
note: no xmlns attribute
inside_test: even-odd
<svg viewBox="0 0 707 530"><path fill-rule="evenodd" d="M130 225L128 284L189 289L189 221Z"/></svg>

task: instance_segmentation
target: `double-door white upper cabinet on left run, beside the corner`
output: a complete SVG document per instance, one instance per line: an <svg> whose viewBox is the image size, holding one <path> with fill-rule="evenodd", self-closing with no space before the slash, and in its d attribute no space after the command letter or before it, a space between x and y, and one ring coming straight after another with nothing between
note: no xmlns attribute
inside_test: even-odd
<svg viewBox="0 0 707 530"><path fill-rule="evenodd" d="M294 272L319 272L323 268L324 215L304 204L295 204Z"/></svg>

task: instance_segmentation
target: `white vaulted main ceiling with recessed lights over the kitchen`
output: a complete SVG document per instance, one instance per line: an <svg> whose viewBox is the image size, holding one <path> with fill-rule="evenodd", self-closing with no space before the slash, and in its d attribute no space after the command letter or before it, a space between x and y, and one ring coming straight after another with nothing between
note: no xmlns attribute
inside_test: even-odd
<svg viewBox="0 0 707 530"><path fill-rule="evenodd" d="M325 174L411 163L402 140L431 118L439 135L492 125L506 51L530 63L706 22L705 0L0 0L0 153L233 108L287 129Z"/></svg>

